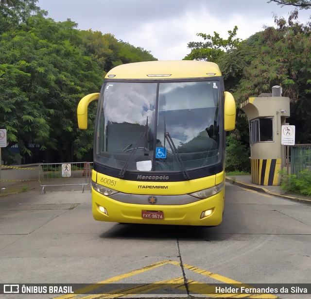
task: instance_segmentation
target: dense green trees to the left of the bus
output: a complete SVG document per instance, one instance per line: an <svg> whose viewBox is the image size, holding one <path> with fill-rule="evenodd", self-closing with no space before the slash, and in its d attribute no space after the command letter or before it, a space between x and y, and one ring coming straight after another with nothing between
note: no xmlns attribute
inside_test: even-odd
<svg viewBox="0 0 311 299"><path fill-rule="evenodd" d="M0 1L0 124L8 147L17 144L25 157L35 144L46 162L71 161L72 155L91 161L97 103L88 108L88 129L79 130L79 100L99 92L113 66L155 58L112 34L45 18L35 2ZM14 161L5 155L7 164Z"/></svg>

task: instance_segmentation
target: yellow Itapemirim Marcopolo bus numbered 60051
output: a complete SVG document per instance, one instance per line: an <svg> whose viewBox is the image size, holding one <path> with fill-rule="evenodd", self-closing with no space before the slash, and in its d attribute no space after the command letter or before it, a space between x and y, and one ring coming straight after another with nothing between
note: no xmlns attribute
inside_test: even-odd
<svg viewBox="0 0 311 299"><path fill-rule="evenodd" d="M216 226L225 206L225 131L236 106L219 67L205 61L150 61L111 69L94 133L94 219Z"/></svg>

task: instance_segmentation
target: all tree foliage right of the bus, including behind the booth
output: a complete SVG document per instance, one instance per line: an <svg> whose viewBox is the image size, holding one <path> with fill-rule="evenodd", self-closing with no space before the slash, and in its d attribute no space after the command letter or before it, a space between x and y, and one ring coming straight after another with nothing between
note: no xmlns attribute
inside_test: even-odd
<svg viewBox="0 0 311 299"><path fill-rule="evenodd" d="M190 43L192 51L185 59L204 59L210 54L206 60L220 66L225 87L238 104L281 85L283 96L291 100L288 121L296 125L296 142L311 143L311 23L299 23L298 12L294 11L287 20L275 16L275 24L276 28L265 28L242 42L230 44L227 52L221 49L223 41L217 34L200 33L206 42ZM237 111L236 120L235 133L248 146L248 122L242 111Z"/></svg>

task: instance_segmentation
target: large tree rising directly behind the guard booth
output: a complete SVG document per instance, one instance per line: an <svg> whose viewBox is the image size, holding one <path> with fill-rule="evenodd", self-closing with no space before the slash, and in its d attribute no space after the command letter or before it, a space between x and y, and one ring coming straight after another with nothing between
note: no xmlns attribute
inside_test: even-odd
<svg viewBox="0 0 311 299"><path fill-rule="evenodd" d="M242 102L281 85L283 96L291 100L289 121L296 125L296 142L310 143L311 23L299 23L297 10L288 20L275 17L275 23L276 28L266 28L241 44L240 50L249 51L235 98Z"/></svg>

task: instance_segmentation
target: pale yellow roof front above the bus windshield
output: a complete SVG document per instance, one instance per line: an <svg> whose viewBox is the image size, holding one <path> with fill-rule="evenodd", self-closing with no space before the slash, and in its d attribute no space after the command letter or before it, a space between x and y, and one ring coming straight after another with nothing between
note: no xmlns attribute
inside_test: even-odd
<svg viewBox="0 0 311 299"><path fill-rule="evenodd" d="M161 60L129 63L112 68L105 78L113 79L189 79L221 76L213 62Z"/></svg>

